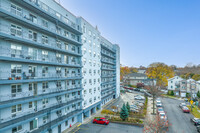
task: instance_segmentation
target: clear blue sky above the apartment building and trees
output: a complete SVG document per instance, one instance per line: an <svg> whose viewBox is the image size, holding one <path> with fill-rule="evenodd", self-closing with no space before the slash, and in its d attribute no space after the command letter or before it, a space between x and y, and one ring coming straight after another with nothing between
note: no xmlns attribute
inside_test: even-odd
<svg viewBox="0 0 200 133"><path fill-rule="evenodd" d="M200 0L60 0L120 46L124 66L200 64Z"/></svg>

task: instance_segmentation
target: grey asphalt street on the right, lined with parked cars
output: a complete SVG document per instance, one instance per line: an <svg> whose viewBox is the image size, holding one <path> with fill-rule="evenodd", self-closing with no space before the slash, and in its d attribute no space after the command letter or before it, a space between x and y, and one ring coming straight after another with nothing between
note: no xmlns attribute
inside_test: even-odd
<svg viewBox="0 0 200 133"><path fill-rule="evenodd" d="M190 122L193 115L183 113L178 107L183 101L163 98L162 102L169 123L171 124L169 127L169 133L197 133L196 127Z"/></svg>

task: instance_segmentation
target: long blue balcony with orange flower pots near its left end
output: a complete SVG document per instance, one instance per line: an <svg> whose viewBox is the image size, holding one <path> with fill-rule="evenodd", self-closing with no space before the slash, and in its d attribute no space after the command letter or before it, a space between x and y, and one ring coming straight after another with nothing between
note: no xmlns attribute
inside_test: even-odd
<svg viewBox="0 0 200 133"><path fill-rule="evenodd" d="M0 71L0 85L2 84L15 84L15 83L29 83L29 82L42 82L42 81L57 81L67 79L82 79L81 74L67 74L58 75L55 73L18 73L13 77L11 71Z"/></svg>

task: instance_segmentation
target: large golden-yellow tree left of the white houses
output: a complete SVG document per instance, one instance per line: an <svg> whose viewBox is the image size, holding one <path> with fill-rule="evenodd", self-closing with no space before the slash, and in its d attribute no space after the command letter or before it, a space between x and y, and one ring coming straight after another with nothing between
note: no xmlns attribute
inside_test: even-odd
<svg viewBox="0 0 200 133"><path fill-rule="evenodd" d="M147 76L156 79L158 86L167 86L168 78L174 77L174 70L164 63L152 63L147 69Z"/></svg>

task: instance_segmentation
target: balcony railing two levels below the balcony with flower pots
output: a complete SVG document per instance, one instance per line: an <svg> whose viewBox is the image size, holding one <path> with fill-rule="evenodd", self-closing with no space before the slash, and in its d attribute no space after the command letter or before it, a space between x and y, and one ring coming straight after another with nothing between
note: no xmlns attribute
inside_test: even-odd
<svg viewBox="0 0 200 133"><path fill-rule="evenodd" d="M12 125L13 123L15 122L20 122L24 119L28 119L28 118L32 118L33 116L37 116L37 115L40 115L40 114L43 114L43 113L47 113L47 112L52 112L54 109L57 109L57 108L60 108L60 107L63 107L65 105L70 105L76 101L79 101L81 100L81 96L77 96L77 97L73 97L73 98L69 98L67 101L62 101L61 103L53 103L53 104L48 104L45 108L44 107L38 107L38 108L33 108L31 110L25 110L25 111L21 111L17 114L13 114L12 116L10 117L5 117L5 118L2 118L0 119L0 129L2 127L5 127L5 126L9 126L9 125ZM32 116L33 115L33 116ZM22 120L21 120L22 119Z"/></svg>

